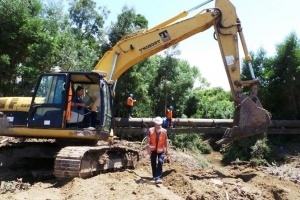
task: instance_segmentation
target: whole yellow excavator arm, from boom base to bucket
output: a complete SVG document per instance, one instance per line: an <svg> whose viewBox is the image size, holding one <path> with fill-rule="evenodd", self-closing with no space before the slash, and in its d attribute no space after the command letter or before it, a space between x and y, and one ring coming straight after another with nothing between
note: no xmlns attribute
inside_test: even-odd
<svg viewBox="0 0 300 200"><path fill-rule="evenodd" d="M134 64L214 27L215 39L219 44L236 107L234 126L226 130L223 139L218 143L265 132L270 124L270 114L263 109L256 96L259 83L252 70L251 56L234 5L229 0L216 0L215 8L205 9L193 17L184 18L190 11L184 11L149 30L124 36L104 54L94 70L104 71L109 80L115 81ZM239 41L250 68L251 80L241 80ZM243 87L250 87L248 96L242 93Z"/></svg>

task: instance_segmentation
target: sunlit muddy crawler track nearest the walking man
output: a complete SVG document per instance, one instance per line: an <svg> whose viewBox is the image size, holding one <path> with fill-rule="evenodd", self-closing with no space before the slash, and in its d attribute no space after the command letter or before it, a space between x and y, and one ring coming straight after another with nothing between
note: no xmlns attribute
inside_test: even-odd
<svg viewBox="0 0 300 200"><path fill-rule="evenodd" d="M134 168L139 151L124 145L68 146L56 156L57 178L89 178L105 171Z"/></svg>

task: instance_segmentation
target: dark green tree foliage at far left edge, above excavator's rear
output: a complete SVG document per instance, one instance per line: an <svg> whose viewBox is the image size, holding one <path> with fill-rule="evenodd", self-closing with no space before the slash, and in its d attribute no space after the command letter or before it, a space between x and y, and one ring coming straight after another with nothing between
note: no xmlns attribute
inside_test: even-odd
<svg viewBox="0 0 300 200"><path fill-rule="evenodd" d="M22 76L18 68L28 60L28 46L38 40L37 32L42 26L41 8L37 0L0 1L0 88L5 96L22 91L16 87Z"/></svg>

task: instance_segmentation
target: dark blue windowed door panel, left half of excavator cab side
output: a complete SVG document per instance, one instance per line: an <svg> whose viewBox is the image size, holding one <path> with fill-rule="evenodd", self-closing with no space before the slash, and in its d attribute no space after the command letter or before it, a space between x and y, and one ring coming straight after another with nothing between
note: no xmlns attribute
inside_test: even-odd
<svg viewBox="0 0 300 200"><path fill-rule="evenodd" d="M45 74L40 77L29 110L28 127L63 127L66 79L65 74Z"/></svg>

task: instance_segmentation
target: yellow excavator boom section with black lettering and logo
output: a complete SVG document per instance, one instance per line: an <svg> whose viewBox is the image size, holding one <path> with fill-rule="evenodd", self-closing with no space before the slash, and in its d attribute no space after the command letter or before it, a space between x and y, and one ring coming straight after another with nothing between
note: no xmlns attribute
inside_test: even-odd
<svg viewBox="0 0 300 200"><path fill-rule="evenodd" d="M218 16L217 9L209 9L180 22L172 18L167 25L162 23L157 28L126 35L104 54L94 69L105 71L109 79L116 80L134 64L207 30Z"/></svg>

